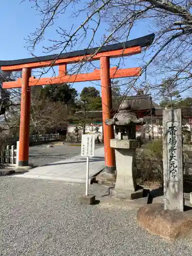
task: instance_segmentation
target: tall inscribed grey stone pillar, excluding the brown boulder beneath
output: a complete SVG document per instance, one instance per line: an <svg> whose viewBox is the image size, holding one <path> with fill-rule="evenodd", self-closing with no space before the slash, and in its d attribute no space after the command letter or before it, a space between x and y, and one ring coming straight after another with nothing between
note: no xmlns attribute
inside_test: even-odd
<svg viewBox="0 0 192 256"><path fill-rule="evenodd" d="M163 111L163 173L165 210L183 211L181 109Z"/></svg>

